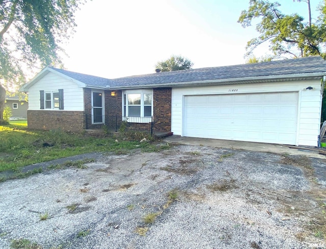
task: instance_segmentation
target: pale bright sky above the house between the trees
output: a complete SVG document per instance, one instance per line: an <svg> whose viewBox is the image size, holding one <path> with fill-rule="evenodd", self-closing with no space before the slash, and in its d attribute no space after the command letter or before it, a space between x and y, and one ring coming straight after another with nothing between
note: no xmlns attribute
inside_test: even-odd
<svg viewBox="0 0 326 249"><path fill-rule="evenodd" d="M279 0L284 14L307 20L307 4ZM319 1L311 0L313 18ZM246 44L255 26L237 23L249 0L93 0L75 13L76 32L64 49L65 69L105 78L154 73L173 54L193 68L246 62ZM255 56L264 56L264 45Z"/></svg>

